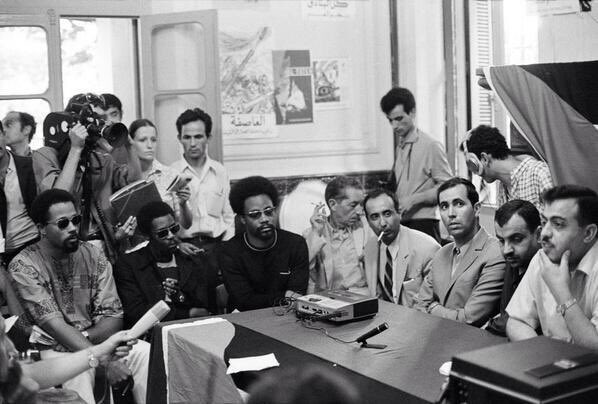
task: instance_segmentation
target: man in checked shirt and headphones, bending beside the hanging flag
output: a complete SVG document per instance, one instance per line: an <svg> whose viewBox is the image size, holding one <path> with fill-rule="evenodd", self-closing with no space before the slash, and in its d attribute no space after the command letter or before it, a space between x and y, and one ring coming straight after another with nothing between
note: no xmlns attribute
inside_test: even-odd
<svg viewBox="0 0 598 404"><path fill-rule="evenodd" d="M536 158L515 155L497 128L480 125L461 145L467 168L486 182L500 181L498 206L513 199L523 199L542 210L540 196L552 188L548 165Z"/></svg>

